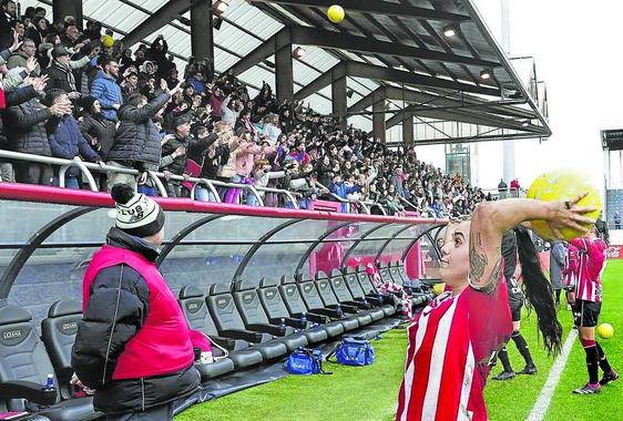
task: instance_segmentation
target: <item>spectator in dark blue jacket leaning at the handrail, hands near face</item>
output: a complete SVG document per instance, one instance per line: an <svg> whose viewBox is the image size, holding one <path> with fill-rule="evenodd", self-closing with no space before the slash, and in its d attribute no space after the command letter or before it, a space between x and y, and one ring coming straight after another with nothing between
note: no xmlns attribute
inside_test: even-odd
<svg viewBox="0 0 623 421"><path fill-rule="evenodd" d="M73 160L79 156L85 161L103 164L100 155L93 151L89 142L82 136L78 122L71 114L71 101L67 92L60 89L50 90L45 94L44 103L48 106L61 105L68 110L61 116L52 116L45 124L52 156L64 160ZM69 188L79 189L79 175L80 171L78 167L70 167L65 173L65 185ZM58 176L54 178L58 179Z"/></svg>

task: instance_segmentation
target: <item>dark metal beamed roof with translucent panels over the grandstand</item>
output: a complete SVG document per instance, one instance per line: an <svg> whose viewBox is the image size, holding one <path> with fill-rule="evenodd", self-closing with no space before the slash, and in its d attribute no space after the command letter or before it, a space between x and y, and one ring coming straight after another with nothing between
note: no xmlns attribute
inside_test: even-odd
<svg viewBox="0 0 623 421"><path fill-rule="evenodd" d="M473 0L227 2L223 24L214 31L215 70L235 70L252 91L263 81L274 85L275 57L266 55L266 48L287 33L294 45L306 50L293 64L295 97L323 114L333 113L330 75L339 71L347 76L348 122L365 130L382 113L388 130L413 121L418 144L551 134L547 92L533 66L528 78L520 78ZM339 24L326 17L336 2L346 10ZM52 2L22 1L22 8L41 3ZM162 33L177 59L192 55L186 24L191 0L82 4L85 19L121 34L126 47ZM448 37L448 29L455 35ZM372 112L379 95L385 107Z"/></svg>

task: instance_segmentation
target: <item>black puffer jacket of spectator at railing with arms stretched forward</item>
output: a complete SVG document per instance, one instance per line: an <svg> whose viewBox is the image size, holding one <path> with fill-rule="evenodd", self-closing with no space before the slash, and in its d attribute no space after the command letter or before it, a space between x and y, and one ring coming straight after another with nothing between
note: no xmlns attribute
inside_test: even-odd
<svg viewBox="0 0 623 421"><path fill-rule="evenodd" d="M170 97L168 93L162 93L140 109L131 104L123 105L119 111L121 123L108 160L142 162L160 166L160 132L152 117Z"/></svg>

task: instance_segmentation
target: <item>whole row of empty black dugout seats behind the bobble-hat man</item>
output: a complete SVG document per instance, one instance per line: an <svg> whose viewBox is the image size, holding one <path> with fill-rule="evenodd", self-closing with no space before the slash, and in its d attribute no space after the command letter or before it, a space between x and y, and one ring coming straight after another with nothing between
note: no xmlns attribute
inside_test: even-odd
<svg viewBox="0 0 623 421"><path fill-rule="evenodd" d="M381 277L396 276L398 278L400 267L395 268ZM418 290L410 299L416 308L430 298ZM206 382L396 316L400 300L380 295L360 267L344 274L334 270L330 277L319 274L314 280L283 276L258 284L214 284L206 295L186 286L180 291L180 305L190 327L225 350L214 348L216 360L196 366ZM0 413L35 411L29 420L52 421L94 418L92 399L70 387L71 349L81 318L80 301L54 302L41 322L40 338L27 310L14 305L0 308ZM58 387L52 396L42 391L49 373Z"/></svg>

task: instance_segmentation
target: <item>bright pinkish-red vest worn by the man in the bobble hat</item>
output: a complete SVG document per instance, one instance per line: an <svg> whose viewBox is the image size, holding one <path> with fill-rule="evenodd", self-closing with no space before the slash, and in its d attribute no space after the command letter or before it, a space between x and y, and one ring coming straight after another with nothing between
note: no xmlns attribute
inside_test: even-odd
<svg viewBox="0 0 623 421"><path fill-rule="evenodd" d="M175 296L153 261L136 251L103 246L84 274L83 304L89 304L91 284L106 267L125 264L136 270L150 289L150 309L139 333L119 356L113 380L137 379L177 372L194 361L188 325Z"/></svg>

